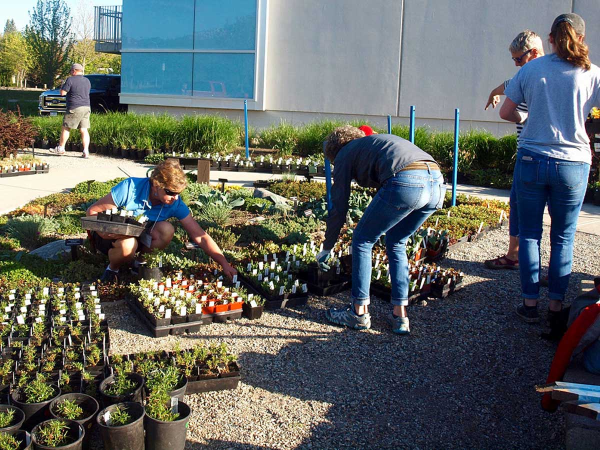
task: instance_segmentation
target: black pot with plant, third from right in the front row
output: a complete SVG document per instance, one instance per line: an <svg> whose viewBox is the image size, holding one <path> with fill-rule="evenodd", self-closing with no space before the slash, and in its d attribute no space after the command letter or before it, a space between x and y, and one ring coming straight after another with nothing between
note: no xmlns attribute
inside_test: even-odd
<svg viewBox="0 0 600 450"><path fill-rule="evenodd" d="M31 441L36 450L80 450L83 448L84 436L82 425L68 419L50 419L35 425L31 430Z"/></svg>

